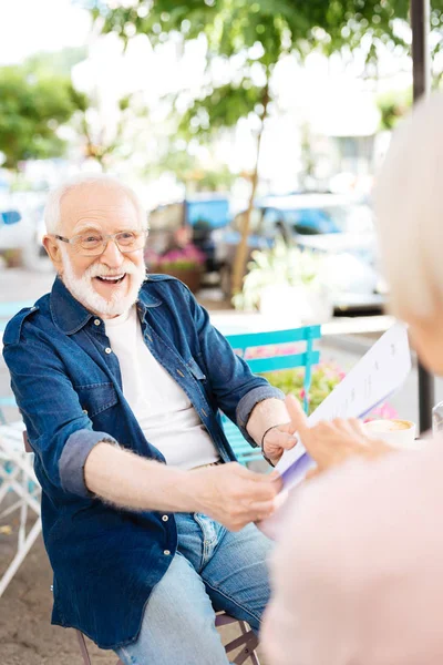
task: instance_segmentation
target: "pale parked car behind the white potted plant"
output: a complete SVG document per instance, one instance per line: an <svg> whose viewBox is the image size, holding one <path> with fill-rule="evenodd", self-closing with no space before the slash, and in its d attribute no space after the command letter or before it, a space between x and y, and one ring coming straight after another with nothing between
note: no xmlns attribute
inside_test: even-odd
<svg viewBox="0 0 443 665"><path fill-rule="evenodd" d="M231 291L231 273L240 239L243 217L217 233L217 260L222 285ZM291 194L267 196L256 202L248 239L254 249L274 245L277 236L288 243L324 255L327 280L334 293L338 311L379 310L383 296L378 293L377 245L372 213L367 203L336 194Z"/></svg>

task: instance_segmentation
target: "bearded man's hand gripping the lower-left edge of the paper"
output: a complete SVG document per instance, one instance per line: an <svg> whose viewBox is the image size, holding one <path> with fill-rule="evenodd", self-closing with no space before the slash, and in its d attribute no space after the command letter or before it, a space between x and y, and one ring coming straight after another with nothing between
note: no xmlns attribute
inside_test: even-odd
<svg viewBox="0 0 443 665"><path fill-rule="evenodd" d="M189 472L198 512L239 531L249 522L269 518L281 488L277 472L269 475L248 471L237 462Z"/></svg>

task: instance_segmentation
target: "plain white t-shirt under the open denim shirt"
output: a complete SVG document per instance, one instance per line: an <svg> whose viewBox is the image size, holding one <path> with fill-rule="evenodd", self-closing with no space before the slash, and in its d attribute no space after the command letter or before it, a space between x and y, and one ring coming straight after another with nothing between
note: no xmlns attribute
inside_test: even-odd
<svg viewBox="0 0 443 665"><path fill-rule="evenodd" d="M150 443L182 469L216 462L217 450L189 398L145 345L135 305L106 319L105 328L123 393Z"/></svg>

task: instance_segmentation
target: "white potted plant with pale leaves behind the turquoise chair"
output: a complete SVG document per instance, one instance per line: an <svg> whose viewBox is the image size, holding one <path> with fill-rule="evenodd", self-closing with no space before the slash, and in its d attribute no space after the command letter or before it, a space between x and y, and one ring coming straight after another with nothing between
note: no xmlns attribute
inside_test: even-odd
<svg viewBox="0 0 443 665"><path fill-rule="evenodd" d="M237 309L290 317L291 325L322 323L332 315L332 299L321 275L322 258L277 238L274 247L255 250Z"/></svg>

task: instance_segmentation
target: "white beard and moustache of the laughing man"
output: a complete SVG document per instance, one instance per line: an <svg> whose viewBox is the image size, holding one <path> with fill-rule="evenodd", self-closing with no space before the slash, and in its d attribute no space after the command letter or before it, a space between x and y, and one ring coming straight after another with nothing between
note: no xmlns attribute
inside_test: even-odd
<svg viewBox="0 0 443 665"><path fill-rule="evenodd" d="M84 305L86 309L102 316L119 316L120 314L128 311L134 303L137 301L138 291L146 274L144 266L136 266L132 260L125 259L121 268L119 268L119 273L131 275L131 277L127 277L127 279L131 279L130 290L125 296L121 296L120 291L123 288L126 288L126 286L122 284L121 287L114 287L112 296L107 299L97 294L92 285L93 277L112 274L106 266L103 264L92 264L84 272L82 277L76 277L64 247L62 248L62 279L68 290L76 300Z"/></svg>

